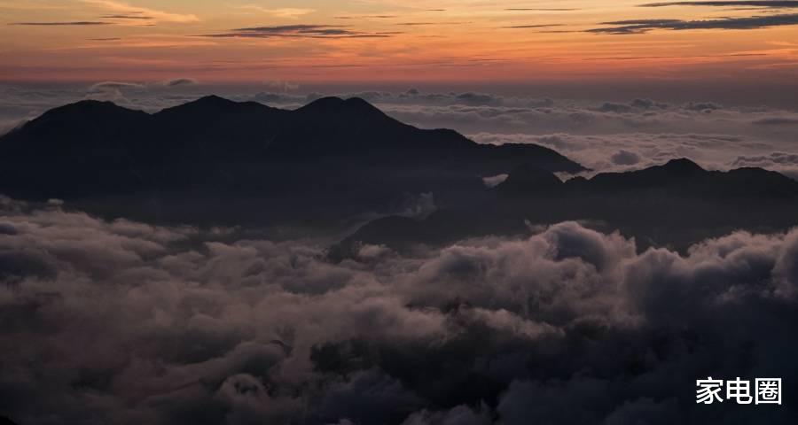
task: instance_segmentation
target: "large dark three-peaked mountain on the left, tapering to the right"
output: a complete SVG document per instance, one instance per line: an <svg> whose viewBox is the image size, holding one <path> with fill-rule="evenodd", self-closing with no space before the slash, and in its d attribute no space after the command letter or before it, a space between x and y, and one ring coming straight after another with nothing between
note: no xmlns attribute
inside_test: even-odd
<svg viewBox="0 0 798 425"><path fill-rule="evenodd" d="M113 198L117 213L164 220L332 220L407 194L457 204L521 164L584 170L542 146L415 128L359 98L282 110L209 96L153 114L86 100L0 138L0 193L110 215Z"/></svg>

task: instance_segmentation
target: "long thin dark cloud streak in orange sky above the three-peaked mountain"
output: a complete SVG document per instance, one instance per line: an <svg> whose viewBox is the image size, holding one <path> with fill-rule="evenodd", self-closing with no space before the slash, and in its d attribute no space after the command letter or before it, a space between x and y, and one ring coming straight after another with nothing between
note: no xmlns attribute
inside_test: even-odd
<svg viewBox="0 0 798 425"><path fill-rule="evenodd" d="M281 25L232 29L221 34L202 35L218 38L368 38L387 37L387 34L363 33L341 25Z"/></svg>

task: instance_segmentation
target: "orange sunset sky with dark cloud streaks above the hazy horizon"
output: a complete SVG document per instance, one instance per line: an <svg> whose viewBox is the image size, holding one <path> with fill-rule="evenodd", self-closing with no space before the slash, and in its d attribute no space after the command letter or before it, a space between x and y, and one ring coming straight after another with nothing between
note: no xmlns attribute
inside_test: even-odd
<svg viewBox="0 0 798 425"><path fill-rule="evenodd" d="M0 81L794 81L798 2L0 0Z"/></svg>

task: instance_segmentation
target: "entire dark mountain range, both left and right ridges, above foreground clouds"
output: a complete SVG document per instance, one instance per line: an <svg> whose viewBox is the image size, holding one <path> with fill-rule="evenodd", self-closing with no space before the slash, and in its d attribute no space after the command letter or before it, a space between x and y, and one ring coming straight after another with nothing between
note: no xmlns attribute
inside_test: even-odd
<svg viewBox="0 0 798 425"><path fill-rule="evenodd" d="M210 96L152 114L82 101L0 138L4 195L60 198L109 218L254 224L285 237L356 228L331 250L338 259L362 243L412 250L563 220L681 250L798 221L798 182L760 168L709 171L680 158L561 178L583 171L542 146L415 128L360 98L283 110ZM508 176L486 187L482 179L498 174ZM411 205L415 197L434 199L434 212Z"/></svg>

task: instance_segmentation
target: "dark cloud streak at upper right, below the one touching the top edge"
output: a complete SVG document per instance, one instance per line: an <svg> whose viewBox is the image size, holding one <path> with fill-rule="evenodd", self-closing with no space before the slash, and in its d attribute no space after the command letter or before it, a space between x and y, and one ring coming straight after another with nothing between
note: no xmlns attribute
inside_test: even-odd
<svg viewBox="0 0 798 425"><path fill-rule="evenodd" d="M798 25L798 14L793 13L705 20L630 19L603 22L602 25L610 27L593 28L587 30L587 32L594 34L631 35L645 34L654 29L759 29L767 27Z"/></svg>

